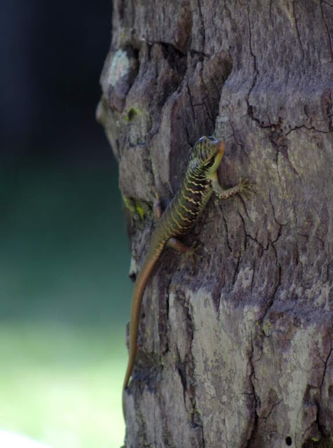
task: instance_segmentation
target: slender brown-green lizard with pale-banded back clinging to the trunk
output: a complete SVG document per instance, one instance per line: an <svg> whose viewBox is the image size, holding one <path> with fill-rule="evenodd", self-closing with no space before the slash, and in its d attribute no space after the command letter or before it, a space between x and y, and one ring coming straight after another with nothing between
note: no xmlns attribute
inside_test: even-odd
<svg viewBox="0 0 333 448"><path fill-rule="evenodd" d="M163 214L161 214L159 204L155 203L156 216L159 219L151 235L147 255L135 280L132 293L129 356L123 389L127 388L135 365L142 297L163 248L168 246L187 255L193 255L194 245L186 246L178 237L186 235L191 230L198 216L205 209L212 193L214 192L220 200L226 200L237 193L252 189L252 184L246 179L245 181L240 179L236 186L226 190L219 185L217 168L224 155L224 150L224 141L217 141L212 137L198 139L191 149L182 185Z"/></svg>

